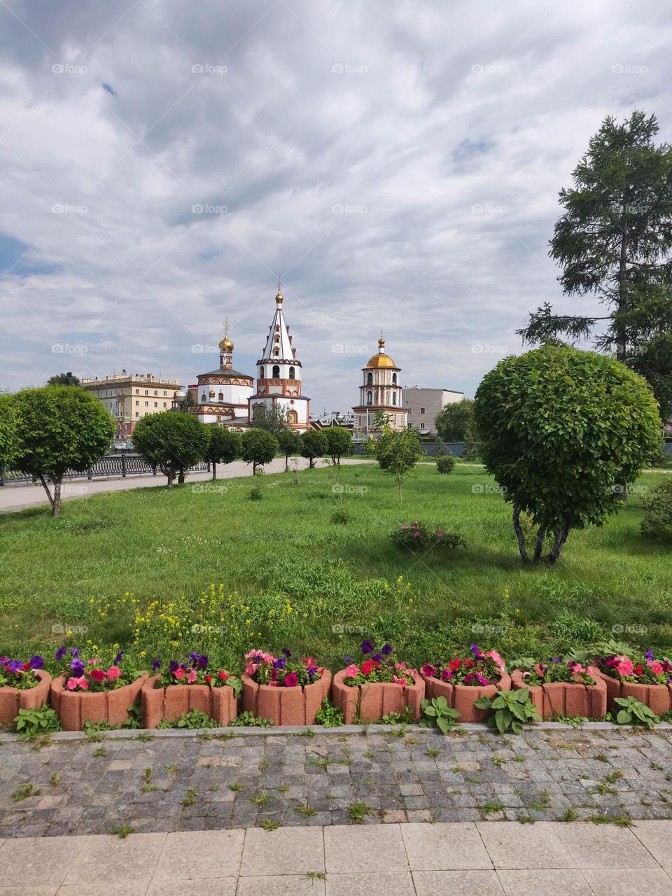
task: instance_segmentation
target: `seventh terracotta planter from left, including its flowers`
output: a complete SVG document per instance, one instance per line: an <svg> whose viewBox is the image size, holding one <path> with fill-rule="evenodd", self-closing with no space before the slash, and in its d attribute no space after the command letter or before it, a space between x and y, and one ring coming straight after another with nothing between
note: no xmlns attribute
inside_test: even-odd
<svg viewBox="0 0 672 896"><path fill-rule="evenodd" d="M602 719L607 713L607 685L596 668L565 662L562 657L547 663L530 659L511 673L514 690L530 689L530 700L542 719L581 716Z"/></svg>

